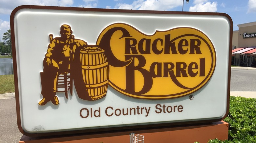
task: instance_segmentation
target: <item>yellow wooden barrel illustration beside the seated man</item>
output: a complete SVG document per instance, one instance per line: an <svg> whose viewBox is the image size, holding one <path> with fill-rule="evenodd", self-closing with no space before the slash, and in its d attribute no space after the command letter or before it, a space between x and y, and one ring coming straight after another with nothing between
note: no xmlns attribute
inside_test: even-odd
<svg viewBox="0 0 256 143"><path fill-rule="evenodd" d="M106 96L109 79L109 64L104 49L96 45L80 50L82 76L89 100L97 100Z"/></svg>

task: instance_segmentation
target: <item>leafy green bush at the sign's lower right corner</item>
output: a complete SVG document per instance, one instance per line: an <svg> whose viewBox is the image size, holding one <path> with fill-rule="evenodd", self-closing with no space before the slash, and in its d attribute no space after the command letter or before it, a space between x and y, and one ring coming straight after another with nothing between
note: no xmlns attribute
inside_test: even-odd
<svg viewBox="0 0 256 143"><path fill-rule="evenodd" d="M256 99L230 96L228 140L209 143L256 143Z"/></svg>

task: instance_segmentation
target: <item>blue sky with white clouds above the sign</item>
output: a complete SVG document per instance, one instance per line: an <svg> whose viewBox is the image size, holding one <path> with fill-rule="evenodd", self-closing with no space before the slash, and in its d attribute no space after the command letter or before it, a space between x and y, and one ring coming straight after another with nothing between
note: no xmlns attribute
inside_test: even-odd
<svg viewBox="0 0 256 143"><path fill-rule="evenodd" d="M21 5L42 5L82 8L182 11L183 0L0 0L0 39L10 29L10 15ZM220 12L237 24L256 22L256 0L184 0L184 11ZM256 31L256 29L255 29Z"/></svg>

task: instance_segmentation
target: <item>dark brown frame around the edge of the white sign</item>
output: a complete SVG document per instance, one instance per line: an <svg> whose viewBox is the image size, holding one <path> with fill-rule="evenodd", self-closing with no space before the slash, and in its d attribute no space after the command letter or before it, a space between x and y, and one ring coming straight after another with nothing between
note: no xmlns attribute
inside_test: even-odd
<svg viewBox="0 0 256 143"><path fill-rule="evenodd" d="M16 59L16 47L15 47L15 36L14 36L14 16L20 9L49 9L49 10L70 10L70 11L96 11L96 12L118 12L118 13L148 13L148 14L176 14L176 15L213 15L213 16L224 16L230 22L230 37L229 37L229 62L228 62L228 85L227 85L227 109L226 114L221 119L209 119L209 120L197 120L197 121L185 121L185 122L174 122L174 123L159 123L159 124L148 124L148 125L133 125L123 127L111 127L111 128L99 128L99 129L85 129L76 131L60 131L51 133L27 133L21 126L20 118L20 104L19 104L19 85L17 76L17 59ZM231 75L231 50L232 50L232 34L233 34L233 21L231 17L225 13L213 13L213 12L180 12L180 11L153 11L153 10L121 10L121 9L102 9L102 8L74 8L74 7L53 7L53 6L33 6L23 5L15 8L10 16L11 24L11 44L12 44L12 55L13 55L13 72L14 72L14 86L15 86L15 98L16 98L16 113L17 113L17 125L20 132L27 136L52 136L52 135L68 135L68 134L103 134L110 132L120 131L134 131L134 130L146 130L146 129L160 129L167 127L177 126L191 126L191 124L202 124L210 123L215 121L221 121L225 119L229 112L229 96L230 96L230 75ZM190 125L189 125L190 124Z"/></svg>

